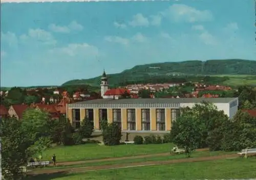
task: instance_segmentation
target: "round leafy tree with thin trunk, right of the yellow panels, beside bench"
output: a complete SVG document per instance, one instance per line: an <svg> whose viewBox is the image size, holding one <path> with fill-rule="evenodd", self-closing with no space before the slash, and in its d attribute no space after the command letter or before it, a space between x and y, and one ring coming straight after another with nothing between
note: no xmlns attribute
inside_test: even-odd
<svg viewBox="0 0 256 180"><path fill-rule="evenodd" d="M170 136L172 142L179 148L185 149L185 153L190 157L198 147L198 138L201 136L200 124L192 117L181 116L172 124Z"/></svg>

